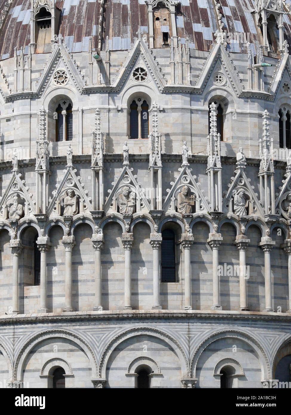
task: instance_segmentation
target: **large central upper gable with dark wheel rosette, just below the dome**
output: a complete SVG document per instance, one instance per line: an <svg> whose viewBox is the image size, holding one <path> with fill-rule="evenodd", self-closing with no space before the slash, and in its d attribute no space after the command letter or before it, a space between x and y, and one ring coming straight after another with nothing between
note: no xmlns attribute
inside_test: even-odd
<svg viewBox="0 0 291 415"><path fill-rule="evenodd" d="M133 75L134 70L138 67L142 67L146 70L147 76L144 80L141 79L139 81L138 77L134 77ZM160 91L164 89L167 82L164 73L162 73L159 68L159 63L157 62L152 50L149 49L147 43L142 38L135 41L127 58L115 76L116 78L112 79L112 87L117 92L126 82L130 82L132 84L137 83L139 85L142 83L153 82L157 85L157 88L159 88Z"/></svg>

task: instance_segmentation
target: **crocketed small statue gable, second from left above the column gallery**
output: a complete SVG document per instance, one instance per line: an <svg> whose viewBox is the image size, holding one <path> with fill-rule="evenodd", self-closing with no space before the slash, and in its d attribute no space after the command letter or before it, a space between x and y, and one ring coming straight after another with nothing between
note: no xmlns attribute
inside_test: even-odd
<svg viewBox="0 0 291 415"><path fill-rule="evenodd" d="M56 190L52 192L53 197L49 198L49 207L47 215L64 215L64 198L68 196L68 191L73 190L76 196L76 206L73 215L78 213L88 213L92 210L91 198L88 198L88 190L84 190L84 185L81 183L80 176L76 176L76 169L68 166L64 170L64 177L61 178L61 183L56 185ZM65 213L66 214L66 213Z"/></svg>

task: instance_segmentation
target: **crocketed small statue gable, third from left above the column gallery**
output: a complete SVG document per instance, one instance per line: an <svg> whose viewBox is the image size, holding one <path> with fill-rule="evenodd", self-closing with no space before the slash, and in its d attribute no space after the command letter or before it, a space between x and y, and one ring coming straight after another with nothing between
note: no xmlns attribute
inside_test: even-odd
<svg viewBox="0 0 291 415"><path fill-rule="evenodd" d="M124 213L119 206L119 196L122 195L122 189L125 187L129 190L128 200L129 202L131 201L129 204L132 206L125 213L130 212L132 214L135 212L149 212L151 210L149 199L145 196L145 189L141 187L141 183L137 182L137 176L132 174L132 170L129 166L123 166L120 169L120 176L112 183L112 190L108 190L109 196L104 205L105 213L118 212L118 210L120 213Z"/></svg>

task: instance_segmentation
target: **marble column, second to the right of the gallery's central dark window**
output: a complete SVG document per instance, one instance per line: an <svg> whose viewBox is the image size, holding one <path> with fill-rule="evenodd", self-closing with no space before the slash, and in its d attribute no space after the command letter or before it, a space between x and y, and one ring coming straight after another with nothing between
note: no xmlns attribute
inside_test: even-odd
<svg viewBox="0 0 291 415"><path fill-rule="evenodd" d="M210 233L207 240L210 248L212 249L212 279L213 279L213 305L211 310L222 310L220 305L220 286L219 286L219 273L218 273L218 250L223 238L221 234Z"/></svg>

